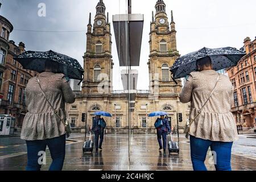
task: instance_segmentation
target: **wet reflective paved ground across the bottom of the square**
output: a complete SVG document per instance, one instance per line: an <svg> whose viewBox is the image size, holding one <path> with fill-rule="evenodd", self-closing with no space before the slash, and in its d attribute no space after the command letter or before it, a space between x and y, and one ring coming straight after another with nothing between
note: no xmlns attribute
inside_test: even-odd
<svg viewBox="0 0 256 182"><path fill-rule="evenodd" d="M255 135L254 135L255 136ZM233 170L256 170L256 139L241 135L234 143L232 155ZM98 154L82 154L84 137L75 134L76 142L67 142L64 170L192 170L188 140L180 136L180 154L164 154L158 151L155 135L134 135L131 137L130 160L129 138L126 135L105 135L103 150ZM176 137L174 137L177 140ZM254 153L255 152L255 153ZM51 163L49 151L46 152L47 170ZM26 167L26 144L17 137L0 138L0 170L24 170ZM214 170L210 152L205 161L210 171Z"/></svg>

